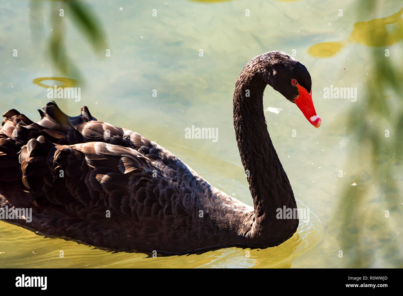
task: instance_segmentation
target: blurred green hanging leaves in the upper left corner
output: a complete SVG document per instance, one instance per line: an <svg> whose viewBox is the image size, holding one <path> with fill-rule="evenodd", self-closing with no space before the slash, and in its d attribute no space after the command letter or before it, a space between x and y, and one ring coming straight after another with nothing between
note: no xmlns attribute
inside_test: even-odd
<svg viewBox="0 0 403 296"><path fill-rule="evenodd" d="M60 16L60 9L64 10L64 16ZM44 2L35 0L30 2L29 6L29 24L31 36L34 43L41 42L44 33ZM82 82L79 69L69 58L66 47L66 32L64 18L71 18L72 23L77 29L85 35L93 51L97 54L104 52L106 48L105 34L101 23L98 21L91 7L81 1L52 1L50 3L50 24L51 33L49 39L49 51L52 63L62 74L74 77Z"/></svg>

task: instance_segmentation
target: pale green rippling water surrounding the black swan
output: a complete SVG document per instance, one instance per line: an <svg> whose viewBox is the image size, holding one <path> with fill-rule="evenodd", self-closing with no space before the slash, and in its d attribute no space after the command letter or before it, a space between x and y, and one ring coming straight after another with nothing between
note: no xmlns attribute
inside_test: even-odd
<svg viewBox="0 0 403 296"><path fill-rule="evenodd" d="M298 206L311 211L310 221L301 222L293 238L275 248L231 247L157 258L44 238L0 222L0 267L403 266L403 174L397 128L403 122L401 97L385 86L386 95L378 99L381 107L391 105L390 117L377 119L381 107L370 109L373 117L365 111L373 106L367 100L370 86L376 86L375 59L386 58L383 53L388 49L392 66L402 68L401 35L394 31L393 42L386 38L388 43L371 47L366 41L372 31L355 26L396 14L401 1L368 1L375 8L361 8L359 1L347 0L208 2L87 1L106 43L94 52L63 2L0 1L0 111L15 108L38 120L36 109L49 99L46 88L32 80L77 79L81 101L56 99L65 113L78 115L80 107L87 105L99 120L156 141L213 186L253 205L232 122L235 80L243 66L261 53L296 53L312 76L312 97L322 125L315 129L295 105L270 87L264 107L281 109L278 114L265 113L268 129ZM152 15L153 9L157 16ZM247 9L250 16L245 16ZM338 15L339 9L343 16ZM74 70L52 62L50 40L56 29L52 17L63 18L58 36ZM400 21L395 22L399 30ZM383 34L396 30L393 24L385 26ZM324 42L337 43L323 48ZM308 49L314 45L310 54ZM397 78L401 81L403 76ZM324 88L330 85L357 87L357 101L325 99ZM369 128L361 128L363 123ZM186 139L185 128L192 125L218 127L218 141ZM374 129L382 131L373 141L382 143L379 150L372 149L373 142L367 143ZM385 129L391 130L388 138L383 136ZM374 173L382 170L389 175ZM60 251L64 258L59 257Z"/></svg>

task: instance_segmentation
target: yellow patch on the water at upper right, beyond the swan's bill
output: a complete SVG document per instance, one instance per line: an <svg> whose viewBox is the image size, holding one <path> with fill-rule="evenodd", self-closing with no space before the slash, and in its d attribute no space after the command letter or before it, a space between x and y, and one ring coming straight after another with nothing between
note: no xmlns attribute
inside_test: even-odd
<svg viewBox="0 0 403 296"><path fill-rule="evenodd" d="M308 49L308 53L317 58L328 58L339 53L348 43L361 43L368 46L393 45L403 39L402 14L403 8L382 19L357 22L346 40L317 43Z"/></svg>

